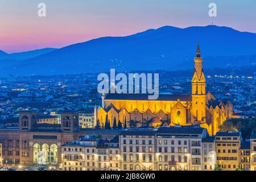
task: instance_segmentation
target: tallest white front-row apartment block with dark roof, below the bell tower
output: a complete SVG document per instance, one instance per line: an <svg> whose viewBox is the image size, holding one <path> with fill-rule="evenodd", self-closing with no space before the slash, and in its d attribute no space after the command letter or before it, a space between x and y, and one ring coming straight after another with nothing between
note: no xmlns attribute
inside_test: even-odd
<svg viewBox="0 0 256 182"><path fill-rule="evenodd" d="M201 170L201 140L206 135L201 127L160 127L156 131L156 170Z"/></svg>

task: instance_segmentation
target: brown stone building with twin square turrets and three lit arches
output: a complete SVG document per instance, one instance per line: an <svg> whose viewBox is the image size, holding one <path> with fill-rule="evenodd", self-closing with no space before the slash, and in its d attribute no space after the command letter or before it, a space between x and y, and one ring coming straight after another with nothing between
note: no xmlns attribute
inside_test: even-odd
<svg viewBox="0 0 256 182"><path fill-rule="evenodd" d="M38 123L38 113L19 113L19 127L0 128L3 164L46 164L58 166L61 162L61 145L90 134L112 138L119 131L82 129L79 113L61 113L60 124Z"/></svg>

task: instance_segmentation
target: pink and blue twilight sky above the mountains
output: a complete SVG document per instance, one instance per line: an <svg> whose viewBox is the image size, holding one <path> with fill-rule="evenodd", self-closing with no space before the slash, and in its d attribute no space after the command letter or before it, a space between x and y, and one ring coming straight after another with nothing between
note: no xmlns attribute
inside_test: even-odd
<svg viewBox="0 0 256 182"><path fill-rule="evenodd" d="M38 16L46 3L47 16ZM217 17L209 17L209 3ZM256 32L255 0L0 0L0 50L60 48L101 36L125 36L149 28L228 26Z"/></svg>

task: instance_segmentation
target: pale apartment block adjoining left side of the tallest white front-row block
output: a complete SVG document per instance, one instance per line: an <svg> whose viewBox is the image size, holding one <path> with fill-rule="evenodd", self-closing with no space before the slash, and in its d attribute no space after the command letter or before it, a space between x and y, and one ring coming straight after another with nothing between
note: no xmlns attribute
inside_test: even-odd
<svg viewBox="0 0 256 182"><path fill-rule="evenodd" d="M119 134L121 170L155 170L155 130L126 130Z"/></svg>

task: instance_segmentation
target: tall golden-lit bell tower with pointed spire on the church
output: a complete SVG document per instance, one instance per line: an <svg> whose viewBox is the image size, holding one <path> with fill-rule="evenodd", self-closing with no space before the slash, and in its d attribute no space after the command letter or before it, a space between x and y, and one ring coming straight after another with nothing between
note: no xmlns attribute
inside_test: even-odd
<svg viewBox="0 0 256 182"><path fill-rule="evenodd" d="M203 70L203 57L201 57L199 43L197 44L196 57L194 57L195 68L192 84L192 123L205 123L205 76Z"/></svg>

